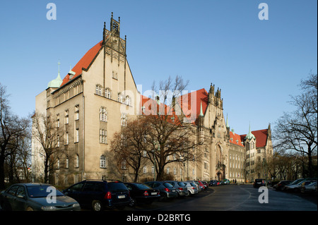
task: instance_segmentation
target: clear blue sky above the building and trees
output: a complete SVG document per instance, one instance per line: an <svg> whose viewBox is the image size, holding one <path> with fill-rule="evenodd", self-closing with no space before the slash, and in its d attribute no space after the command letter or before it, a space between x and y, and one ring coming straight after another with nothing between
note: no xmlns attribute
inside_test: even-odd
<svg viewBox="0 0 318 225"><path fill-rule="evenodd" d="M47 20L47 4L57 20ZM269 20L259 20L260 3ZM290 95L317 73L317 1L1 1L0 83L11 109L28 116L35 96L102 39L104 21L121 18L137 85L181 75L187 89L222 90L235 133L275 126L292 111Z"/></svg>

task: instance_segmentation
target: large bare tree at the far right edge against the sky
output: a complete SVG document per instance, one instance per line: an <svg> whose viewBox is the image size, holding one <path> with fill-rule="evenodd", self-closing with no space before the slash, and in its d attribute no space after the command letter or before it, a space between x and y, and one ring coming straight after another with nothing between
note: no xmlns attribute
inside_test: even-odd
<svg viewBox="0 0 318 225"><path fill-rule="evenodd" d="M301 95L290 102L295 111L278 119L274 139L276 147L293 150L307 156L308 176L313 176L312 156L317 154L317 74L302 80Z"/></svg>

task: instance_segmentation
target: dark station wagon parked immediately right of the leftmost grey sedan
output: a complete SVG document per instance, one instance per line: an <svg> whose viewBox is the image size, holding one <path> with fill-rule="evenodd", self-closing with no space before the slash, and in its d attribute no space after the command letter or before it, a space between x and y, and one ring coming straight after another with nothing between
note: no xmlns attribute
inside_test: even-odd
<svg viewBox="0 0 318 225"><path fill-rule="evenodd" d="M78 201L82 208L90 207L94 211L124 209L131 200L128 188L120 181L85 180L63 192Z"/></svg>

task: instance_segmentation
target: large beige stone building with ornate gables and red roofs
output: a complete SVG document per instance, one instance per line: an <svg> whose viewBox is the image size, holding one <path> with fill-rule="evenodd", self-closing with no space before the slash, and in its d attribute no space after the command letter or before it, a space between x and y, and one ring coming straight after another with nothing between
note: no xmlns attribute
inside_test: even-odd
<svg viewBox="0 0 318 225"><path fill-rule="evenodd" d="M63 80L58 73L35 98L36 114L54 118L56 128L63 130L57 141L64 151L50 174L50 182L56 185L86 178L132 179L125 166L114 166L109 140L126 126L129 116L140 114L143 96L126 59L126 37L120 37L120 20L112 16L110 30L104 25L102 37ZM197 135L208 138L208 145L200 161L171 164L166 172L176 180L229 178L243 182L263 176L254 165L273 152L270 126L237 135L225 121L221 90L211 84L208 92L201 89L191 95L196 99L193 126L198 128ZM43 176L41 155L41 145L33 137L33 175L37 178ZM146 163L140 180L153 178L153 173L153 166Z"/></svg>

